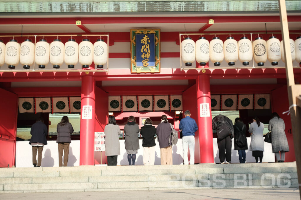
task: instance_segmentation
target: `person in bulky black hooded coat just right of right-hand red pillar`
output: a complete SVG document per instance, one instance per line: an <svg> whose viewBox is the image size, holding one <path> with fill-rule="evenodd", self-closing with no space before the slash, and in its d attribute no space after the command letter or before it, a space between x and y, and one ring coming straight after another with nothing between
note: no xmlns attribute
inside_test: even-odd
<svg viewBox="0 0 301 200"><path fill-rule="evenodd" d="M217 146L219 148L219 160L221 164L231 163L232 138L233 138L233 123L231 119L224 115L217 115L212 119L212 129L216 130L218 135ZM219 134L227 133L225 136ZM225 153L226 150L226 153Z"/></svg>

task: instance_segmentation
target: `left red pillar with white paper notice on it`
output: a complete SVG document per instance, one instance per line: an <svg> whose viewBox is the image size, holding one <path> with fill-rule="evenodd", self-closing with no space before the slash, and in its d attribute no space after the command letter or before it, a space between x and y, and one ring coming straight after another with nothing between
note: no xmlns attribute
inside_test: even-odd
<svg viewBox="0 0 301 200"><path fill-rule="evenodd" d="M94 165L95 80L82 77L79 165Z"/></svg>

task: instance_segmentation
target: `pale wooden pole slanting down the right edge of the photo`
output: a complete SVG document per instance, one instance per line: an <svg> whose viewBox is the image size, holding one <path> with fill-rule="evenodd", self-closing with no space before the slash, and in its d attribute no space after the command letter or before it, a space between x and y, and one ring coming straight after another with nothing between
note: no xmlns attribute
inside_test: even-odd
<svg viewBox="0 0 301 200"><path fill-rule="evenodd" d="M287 13L285 0L278 0L281 20L282 40L284 44L285 68L288 87L288 100L290 103L290 120L294 139L295 157L298 173L299 193L301 198L301 85L295 85L292 56L290 53L290 36L288 31ZM297 103L298 102L298 105Z"/></svg>

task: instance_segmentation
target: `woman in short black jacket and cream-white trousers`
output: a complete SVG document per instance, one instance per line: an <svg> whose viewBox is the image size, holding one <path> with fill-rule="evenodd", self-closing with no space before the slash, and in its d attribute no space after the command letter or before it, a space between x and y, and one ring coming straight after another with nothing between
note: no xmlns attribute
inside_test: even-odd
<svg viewBox="0 0 301 200"><path fill-rule="evenodd" d="M155 134L156 127L153 125L153 121L147 118L144 122L144 126L141 127L140 134L142 135L142 147L143 147L143 164L154 165L155 164Z"/></svg>

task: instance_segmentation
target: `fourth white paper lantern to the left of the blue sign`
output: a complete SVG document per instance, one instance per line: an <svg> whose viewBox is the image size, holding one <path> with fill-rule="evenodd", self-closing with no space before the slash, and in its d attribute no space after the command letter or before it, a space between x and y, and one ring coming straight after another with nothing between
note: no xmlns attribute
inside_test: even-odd
<svg viewBox="0 0 301 200"><path fill-rule="evenodd" d="M49 61L55 69L59 69L64 63L64 43L62 43L58 38L54 39L53 42L50 43Z"/></svg>

